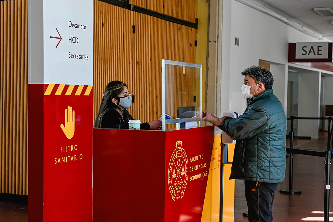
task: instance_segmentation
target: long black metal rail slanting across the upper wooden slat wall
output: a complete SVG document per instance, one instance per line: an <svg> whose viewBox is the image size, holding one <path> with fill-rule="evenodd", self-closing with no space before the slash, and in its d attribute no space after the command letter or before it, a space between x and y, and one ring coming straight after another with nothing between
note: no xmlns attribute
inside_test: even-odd
<svg viewBox="0 0 333 222"><path fill-rule="evenodd" d="M175 18L175 17L172 17L172 16L168 16L168 15L165 15L165 14L162 14L162 13L159 13L159 12L155 12L155 11L152 11L152 10L149 10L149 9L141 8L141 7L136 6L136 5L129 4L128 1L125 1L125 0L99 0L99 1L111 4L111 5L115 5L115 6L118 6L118 7L121 7L121 8L125 8L125 9L128 9L128 10L134 11L134 12L139 12L139 13L142 13L142 14L146 14L146 15L150 15L150 16L153 16L153 17L156 17L156 18L160 18L160 19L166 20L168 22L173 22L173 23L188 26L188 27L191 27L191 28L194 28L194 29L198 29L198 19L197 18L195 18L195 23L193 23L193 22L188 22L188 21L178 19L178 18Z"/></svg>

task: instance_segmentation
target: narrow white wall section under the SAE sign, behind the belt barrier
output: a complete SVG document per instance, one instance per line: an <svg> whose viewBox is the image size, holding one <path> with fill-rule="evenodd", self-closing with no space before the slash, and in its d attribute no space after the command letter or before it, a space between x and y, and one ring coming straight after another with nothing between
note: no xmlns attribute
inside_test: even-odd
<svg viewBox="0 0 333 222"><path fill-rule="evenodd" d="M320 117L320 79L319 72L301 71L299 74L298 116ZM318 138L319 120L298 120L298 136Z"/></svg>

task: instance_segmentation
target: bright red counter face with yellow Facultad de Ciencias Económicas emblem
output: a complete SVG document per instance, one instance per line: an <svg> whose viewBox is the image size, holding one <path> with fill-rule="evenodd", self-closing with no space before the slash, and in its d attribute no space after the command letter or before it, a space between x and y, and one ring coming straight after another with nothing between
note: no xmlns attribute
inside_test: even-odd
<svg viewBox="0 0 333 222"><path fill-rule="evenodd" d="M165 221L201 221L213 127L166 132Z"/></svg>

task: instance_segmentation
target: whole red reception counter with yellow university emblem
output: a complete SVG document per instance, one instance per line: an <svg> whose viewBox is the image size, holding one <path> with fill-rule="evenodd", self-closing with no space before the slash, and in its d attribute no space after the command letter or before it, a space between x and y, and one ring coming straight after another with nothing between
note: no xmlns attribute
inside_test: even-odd
<svg viewBox="0 0 333 222"><path fill-rule="evenodd" d="M94 129L93 221L202 218L214 126Z"/></svg>

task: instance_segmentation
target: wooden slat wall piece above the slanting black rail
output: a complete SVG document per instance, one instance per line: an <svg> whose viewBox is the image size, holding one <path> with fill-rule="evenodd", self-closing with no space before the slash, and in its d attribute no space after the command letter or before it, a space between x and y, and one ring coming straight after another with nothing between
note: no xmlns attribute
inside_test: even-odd
<svg viewBox="0 0 333 222"><path fill-rule="evenodd" d="M196 0L129 0L129 3L195 23Z"/></svg>

